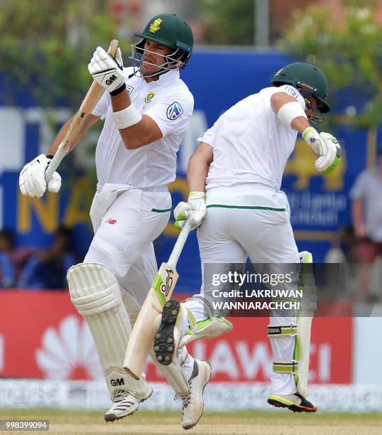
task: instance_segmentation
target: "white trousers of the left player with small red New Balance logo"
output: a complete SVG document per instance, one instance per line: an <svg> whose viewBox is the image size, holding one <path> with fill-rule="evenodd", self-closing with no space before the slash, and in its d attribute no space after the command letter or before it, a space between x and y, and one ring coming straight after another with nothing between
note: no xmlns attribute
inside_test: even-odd
<svg viewBox="0 0 382 435"><path fill-rule="evenodd" d="M90 208L94 237L84 262L107 267L138 306L158 272L153 240L165 229L170 210L167 188L153 191L107 184L94 196Z"/></svg>

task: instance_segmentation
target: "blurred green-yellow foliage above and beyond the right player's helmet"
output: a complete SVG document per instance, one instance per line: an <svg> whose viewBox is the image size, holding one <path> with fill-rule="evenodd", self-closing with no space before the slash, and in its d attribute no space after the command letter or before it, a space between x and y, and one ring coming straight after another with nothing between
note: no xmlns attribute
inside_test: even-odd
<svg viewBox="0 0 382 435"><path fill-rule="evenodd" d="M321 68L332 90L353 86L365 97L356 127L382 122L382 27L376 23L376 1L342 0L344 17L310 7L297 11L285 33L283 50ZM330 96L330 94L329 94Z"/></svg>

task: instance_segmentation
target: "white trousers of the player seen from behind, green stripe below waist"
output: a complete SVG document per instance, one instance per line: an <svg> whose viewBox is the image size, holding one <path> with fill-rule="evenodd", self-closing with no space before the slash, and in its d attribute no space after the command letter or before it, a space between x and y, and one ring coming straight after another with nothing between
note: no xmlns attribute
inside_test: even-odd
<svg viewBox="0 0 382 435"><path fill-rule="evenodd" d="M206 263L295 263L298 248L285 193L266 186L235 186L207 191L207 213L197 232L200 259ZM224 264L222 264L224 268ZM215 270L219 273L219 270ZM222 269L222 273L227 269ZM212 288L203 280L201 293ZM206 318L200 304L187 304L196 321ZM256 322L256 319L253 319ZM271 326L295 324L295 317L272 313ZM266 334L266 331L264 331ZM271 338L273 360L293 360L294 337ZM293 375L273 372L271 394L297 391Z"/></svg>

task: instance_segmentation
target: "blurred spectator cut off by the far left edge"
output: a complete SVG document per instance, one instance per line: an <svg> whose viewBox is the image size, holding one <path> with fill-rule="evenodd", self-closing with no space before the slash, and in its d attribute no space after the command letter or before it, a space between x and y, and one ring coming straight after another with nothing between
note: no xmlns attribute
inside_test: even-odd
<svg viewBox="0 0 382 435"><path fill-rule="evenodd" d="M26 247L14 247L12 230L0 231L0 288L15 286L18 276L33 252Z"/></svg>

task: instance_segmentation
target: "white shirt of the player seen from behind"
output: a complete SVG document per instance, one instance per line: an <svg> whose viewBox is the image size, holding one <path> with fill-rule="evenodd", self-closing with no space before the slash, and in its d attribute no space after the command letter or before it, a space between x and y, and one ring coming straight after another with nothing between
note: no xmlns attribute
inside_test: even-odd
<svg viewBox="0 0 382 435"><path fill-rule="evenodd" d="M206 190L246 183L280 189L298 133L282 124L273 112L271 96L276 92L293 95L305 109L305 101L294 87L266 87L224 112L197 139L214 149Z"/></svg>

